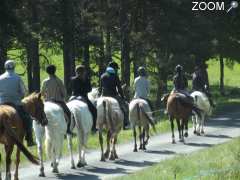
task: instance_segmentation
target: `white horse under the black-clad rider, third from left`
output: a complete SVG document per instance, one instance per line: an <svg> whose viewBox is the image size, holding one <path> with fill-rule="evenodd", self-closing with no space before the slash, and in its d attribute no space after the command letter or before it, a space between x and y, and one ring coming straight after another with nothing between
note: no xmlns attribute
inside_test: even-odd
<svg viewBox="0 0 240 180"><path fill-rule="evenodd" d="M77 127L78 137L78 163L77 167L87 165L85 160L85 150L87 148L88 135L91 132L93 125L93 117L88 109L88 105L80 100L71 100L67 103L68 108L72 112ZM72 136L68 136L68 146L71 154L71 168L75 168L73 151L72 151Z"/></svg>

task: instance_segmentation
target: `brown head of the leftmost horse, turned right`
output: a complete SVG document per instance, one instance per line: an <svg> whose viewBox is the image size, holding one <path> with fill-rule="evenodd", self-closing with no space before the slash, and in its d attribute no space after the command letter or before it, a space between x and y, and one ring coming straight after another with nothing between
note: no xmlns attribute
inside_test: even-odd
<svg viewBox="0 0 240 180"><path fill-rule="evenodd" d="M26 111L34 117L38 123L42 126L48 124L48 120L44 112L44 104L41 98L41 93L33 93L24 98L22 102Z"/></svg>

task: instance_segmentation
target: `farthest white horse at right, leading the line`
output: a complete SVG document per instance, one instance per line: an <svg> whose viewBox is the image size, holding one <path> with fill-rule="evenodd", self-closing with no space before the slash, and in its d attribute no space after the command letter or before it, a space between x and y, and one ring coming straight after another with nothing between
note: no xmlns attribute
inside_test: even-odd
<svg viewBox="0 0 240 180"><path fill-rule="evenodd" d="M212 114L212 107L210 105L209 99L205 93L200 91L194 91L191 93L194 99L195 105L201 110L201 116L195 114L192 117L194 134L201 135L204 134L204 123L208 116Z"/></svg>

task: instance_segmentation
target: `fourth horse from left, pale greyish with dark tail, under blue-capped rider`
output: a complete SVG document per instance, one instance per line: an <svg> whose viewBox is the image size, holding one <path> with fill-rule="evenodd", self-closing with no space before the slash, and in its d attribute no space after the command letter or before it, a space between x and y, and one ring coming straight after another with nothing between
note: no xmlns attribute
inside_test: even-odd
<svg viewBox="0 0 240 180"><path fill-rule="evenodd" d="M117 137L123 127L124 115L118 101L112 97L100 97L97 99L97 128L99 129L99 142L101 146L101 161L106 158L118 159L115 145ZM103 149L103 129L107 130L107 149ZM110 147L112 145L112 148ZM109 153L110 157L109 157Z"/></svg>

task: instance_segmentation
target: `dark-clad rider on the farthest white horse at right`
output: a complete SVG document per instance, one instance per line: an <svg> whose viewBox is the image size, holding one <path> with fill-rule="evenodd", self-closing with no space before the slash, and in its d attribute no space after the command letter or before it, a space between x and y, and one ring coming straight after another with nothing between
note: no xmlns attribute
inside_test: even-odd
<svg viewBox="0 0 240 180"><path fill-rule="evenodd" d="M215 107L215 104L213 103L211 93L209 91L209 81L208 81L208 74L206 71L206 65L196 66L195 71L193 73L192 77L192 89L193 91L201 91L205 93L209 99L210 105L212 107Z"/></svg>

